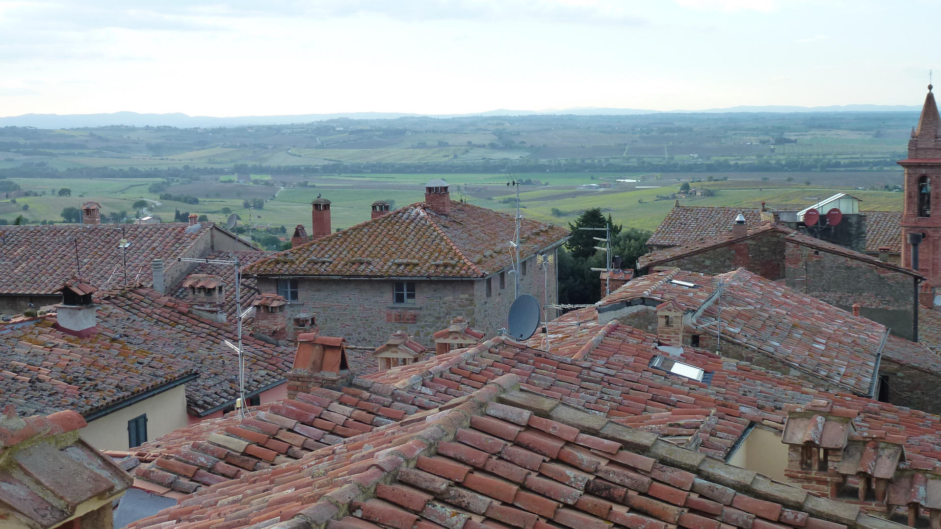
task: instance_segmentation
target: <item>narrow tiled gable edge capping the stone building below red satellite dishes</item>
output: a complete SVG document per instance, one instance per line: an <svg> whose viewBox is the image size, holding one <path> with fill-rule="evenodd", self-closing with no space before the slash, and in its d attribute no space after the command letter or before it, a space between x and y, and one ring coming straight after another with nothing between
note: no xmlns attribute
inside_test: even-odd
<svg viewBox="0 0 941 529"><path fill-rule="evenodd" d="M748 233L742 239L736 239L732 236L731 232L722 233L714 237L700 239L698 241L691 241L685 244L678 246L673 246L671 248L666 248L664 250L658 250L646 254L639 259L637 259L637 264L639 269L646 269L651 266L659 266L670 261L676 260L680 257L689 257L699 254L701 252L707 252L714 248L718 248L729 244L733 241L743 241L748 239L754 239L768 233L779 233L784 235L784 241L790 244L800 244L802 246L807 246L814 248L816 250L821 250L830 254L835 254L837 256L849 257L858 261L863 261L869 263L873 266L883 268L885 270L891 270L893 272L900 272L906 275L911 275L913 277L923 277L918 272L903 268L901 266L893 265L884 261L879 260L877 257L868 256L866 254L861 254L845 246L840 246L830 241L822 241L815 237L811 237L805 234L802 231L789 228L781 224L774 224L771 222L763 222L757 226L750 226ZM869 241L869 239L867 239ZM867 244L869 244L867 242Z"/></svg>

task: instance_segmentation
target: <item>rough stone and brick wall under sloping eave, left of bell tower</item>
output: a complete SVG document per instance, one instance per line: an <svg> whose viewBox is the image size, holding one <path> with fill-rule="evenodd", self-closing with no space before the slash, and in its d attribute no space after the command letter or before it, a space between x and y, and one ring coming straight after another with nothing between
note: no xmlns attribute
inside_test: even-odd
<svg viewBox="0 0 941 529"><path fill-rule="evenodd" d="M789 243L785 284L848 312L882 323L893 335L912 338L913 279L864 261Z"/></svg>

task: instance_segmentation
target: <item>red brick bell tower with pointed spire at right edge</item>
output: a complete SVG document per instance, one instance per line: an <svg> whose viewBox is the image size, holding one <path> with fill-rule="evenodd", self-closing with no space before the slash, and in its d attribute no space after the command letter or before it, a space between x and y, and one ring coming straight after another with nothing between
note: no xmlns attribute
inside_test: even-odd
<svg viewBox="0 0 941 529"><path fill-rule="evenodd" d="M928 283L941 284L941 117L928 86L917 128L908 140L905 168L905 206L901 215L901 265L913 268L917 252L918 271ZM918 243L918 234L921 241ZM917 244L914 247L913 242Z"/></svg>

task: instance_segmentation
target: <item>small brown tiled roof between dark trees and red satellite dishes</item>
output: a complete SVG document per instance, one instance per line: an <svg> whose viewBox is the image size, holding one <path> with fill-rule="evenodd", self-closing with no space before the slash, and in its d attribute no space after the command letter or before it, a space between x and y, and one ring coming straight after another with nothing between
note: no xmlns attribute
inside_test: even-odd
<svg viewBox="0 0 941 529"><path fill-rule="evenodd" d="M715 237L732 229L732 221L742 213L745 223L754 226L761 222L757 208L706 208L676 206L657 226L647 240L648 246L678 246L687 242Z"/></svg>

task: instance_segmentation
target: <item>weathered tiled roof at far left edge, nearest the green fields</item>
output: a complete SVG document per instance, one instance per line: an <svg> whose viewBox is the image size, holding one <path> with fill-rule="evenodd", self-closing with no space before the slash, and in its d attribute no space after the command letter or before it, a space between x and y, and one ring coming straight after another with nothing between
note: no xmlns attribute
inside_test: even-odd
<svg viewBox="0 0 941 529"><path fill-rule="evenodd" d="M153 259L165 264L189 256L196 241L214 226L203 223L187 231L185 224L159 225L46 225L0 228L0 293L49 294L78 273L97 288L123 283L123 260L118 242L121 229L127 248L129 282L151 285ZM216 228L217 229L217 228ZM82 270L75 270L75 241Z"/></svg>

